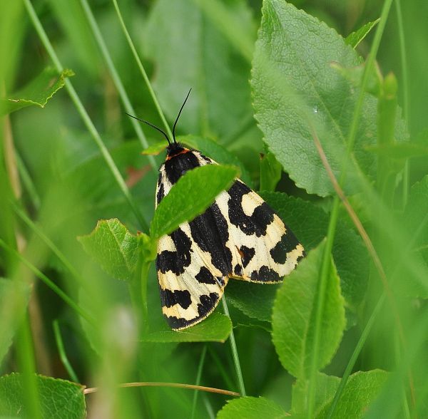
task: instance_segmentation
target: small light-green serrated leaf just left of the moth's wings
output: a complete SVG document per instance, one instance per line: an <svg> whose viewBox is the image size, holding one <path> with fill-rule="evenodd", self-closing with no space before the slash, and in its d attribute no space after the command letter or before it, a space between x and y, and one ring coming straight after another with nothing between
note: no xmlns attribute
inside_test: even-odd
<svg viewBox="0 0 428 419"><path fill-rule="evenodd" d="M91 234L78 237L78 241L113 278L132 279L141 254L141 242L118 219L98 221Z"/></svg>

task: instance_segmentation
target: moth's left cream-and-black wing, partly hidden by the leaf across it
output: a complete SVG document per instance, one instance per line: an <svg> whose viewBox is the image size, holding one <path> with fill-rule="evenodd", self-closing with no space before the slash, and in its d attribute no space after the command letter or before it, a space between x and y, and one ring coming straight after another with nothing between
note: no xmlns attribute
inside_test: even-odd
<svg viewBox="0 0 428 419"><path fill-rule="evenodd" d="M194 152L198 165L210 162ZM172 182L161 167L156 188L156 205L168 194ZM225 219L211 206L191 222L180 224L172 234L158 242L158 271L161 304L171 329L180 330L197 324L217 306L228 283L228 270L224 262L225 238L218 226L227 232Z"/></svg>

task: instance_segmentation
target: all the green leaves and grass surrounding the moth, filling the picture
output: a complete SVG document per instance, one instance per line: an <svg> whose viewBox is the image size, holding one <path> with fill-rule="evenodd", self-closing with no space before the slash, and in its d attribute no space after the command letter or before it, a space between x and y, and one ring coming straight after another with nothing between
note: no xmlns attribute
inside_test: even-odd
<svg viewBox="0 0 428 419"><path fill-rule="evenodd" d="M85 397L88 417L121 419L424 417L425 6L292 3L301 10L285 0L4 2L1 417L85 418ZM123 111L132 104L172 128L189 88L177 139L219 165L185 174L155 210L167 143ZM307 257L282 284L230 279L225 314L219 304L172 331L158 238L237 176ZM59 379L66 371L82 385ZM118 388L134 382L153 386ZM99 393L84 395L83 383Z"/></svg>

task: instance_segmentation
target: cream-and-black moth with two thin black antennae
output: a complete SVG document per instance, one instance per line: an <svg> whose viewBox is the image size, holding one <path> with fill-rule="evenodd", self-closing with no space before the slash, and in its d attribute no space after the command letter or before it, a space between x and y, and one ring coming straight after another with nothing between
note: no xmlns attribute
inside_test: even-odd
<svg viewBox="0 0 428 419"><path fill-rule="evenodd" d="M190 90L173 125L172 141L161 128L133 117L168 140L156 207L185 172L218 164L175 140L175 126ZM214 311L229 279L276 284L304 255L302 244L280 217L236 178L203 214L159 239L156 269L163 315L173 330L198 324Z"/></svg>

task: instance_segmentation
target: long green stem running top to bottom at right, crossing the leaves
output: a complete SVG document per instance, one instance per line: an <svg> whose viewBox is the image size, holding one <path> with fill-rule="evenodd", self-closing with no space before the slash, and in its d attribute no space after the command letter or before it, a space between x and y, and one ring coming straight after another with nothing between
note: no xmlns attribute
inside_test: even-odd
<svg viewBox="0 0 428 419"><path fill-rule="evenodd" d="M355 138L357 137L357 129L360 123L360 116L362 112L362 105L365 98L365 87L369 80L370 73L374 66L374 60L377 56L377 51L379 49L379 44L382 39L382 34L387 22L387 17L389 14L389 9L391 8L392 0L385 0L382 8L382 13L380 16L380 22L377 26L376 33L374 35L374 40L372 43L372 48L370 49L370 54L367 57L367 62L365 65L365 71L362 76L362 86L360 88L360 93L357 98L357 103L355 105L354 115L352 118L352 123L350 127L350 132L347 138L347 152L345 159L342 163L342 170L340 172L339 185L342 186L346 180L347 164L350 160L350 155L354 148ZM331 263L331 250L332 244L334 242L334 236L337 225L337 216L340 205L340 198L338 195L335 195L335 200L333 202L332 212L330 214L330 222L327 230L327 242L325 244L325 252L322 257L322 267L319 279L319 293L317 296L317 314L315 318L315 333L314 333L314 342L312 346L312 360L310 368L310 383L309 383L309 394L308 394L308 403L307 403L307 417L312 419L315 409L315 379L317 373L317 364L318 364L318 351L320 348L320 338L321 338L321 316L324 309L325 303L325 289L327 284L327 275L330 269Z"/></svg>

